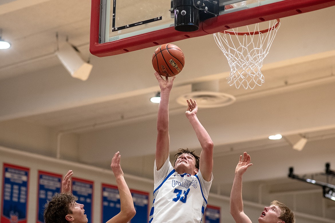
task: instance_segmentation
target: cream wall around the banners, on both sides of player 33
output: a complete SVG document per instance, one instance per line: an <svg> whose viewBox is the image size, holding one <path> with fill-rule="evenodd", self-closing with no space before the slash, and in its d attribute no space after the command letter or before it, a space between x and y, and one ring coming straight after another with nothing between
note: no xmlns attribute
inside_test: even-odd
<svg viewBox="0 0 335 223"><path fill-rule="evenodd" d="M112 156L112 155L110 155ZM111 157L112 158L112 157ZM11 163L14 165L24 166L30 169L30 179L29 179L29 197L28 197L28 223L36 222L36 211L37 211L37 188L38 188L38 171L43 170L47 172L57 173L57 174L66 174L68 170L73 170L74 176L86 180L94 181L94 201L93 201L93 222L100 222L100 205L101 205L101 184L112 184L116 185L113 172L109 169L109 166L106 169L96 168L89 165L83 165L75 162L69 162L61 159L54 159L42 155L37 155L28 152L22 152L13 150L10 148L0 146L0 172L3 173L3 163ZM153 180L145 179L136 176L130 176L125 174L126 182L130 189L146 191L150 195L149 204L152 203L152 192L153 192ZM2 185L3 176L0 178L0 185ZM245 188L244 194L255 193L258 194L260 187ZM230 190L227 189L227 190ZM316 192L319 196L318 192ZM0 194L2 196L2 194ZM248 197L248 196L246 196ZM250 197L250 196L249 196ZM257 197L257 195L256 195ZM295 208L299 206L294 204L295 199L294 195L289 194L271 194L270 192L264 192L262 197L265 204L258 204L255 202L249 202L245 200L244 210L247 215L252 219L253 222L257 222L258 217L260 216L264 205L276 199L288 199L290 201L290 207ZM278 198L279 197L279 198ZM0 197L2 199L2 197ZM300 200L298 202L304 202ZM210 193L208 198L208 204L212 206L219 206L221 208L221 223L234 223L232 217L229 214L229 197L217 195ZM321 204L322 205L322 204ZM149 205L149 209L150 209ZM292 209L293 209L292 208ZM303 211L303 210L302 210ZM329 210L328 212L331 212ZM331 213L328 214L328 219L322 217L312 216L306 213L295 211L296 223L335 223L335 216ZM330 220L334 219L334 220Z"/></svg>

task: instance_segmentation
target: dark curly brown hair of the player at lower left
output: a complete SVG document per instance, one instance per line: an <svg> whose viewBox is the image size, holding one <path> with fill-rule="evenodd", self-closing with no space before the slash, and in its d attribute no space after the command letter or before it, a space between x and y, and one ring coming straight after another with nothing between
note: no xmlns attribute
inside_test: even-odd
<svg viewBox="0 0 335 223"><path fill-rule="evenodd" d="M77 201L77 197L70 193L56 194L44 205L45 223L68 223L67 214L72 214L71 204Z"/></svg>

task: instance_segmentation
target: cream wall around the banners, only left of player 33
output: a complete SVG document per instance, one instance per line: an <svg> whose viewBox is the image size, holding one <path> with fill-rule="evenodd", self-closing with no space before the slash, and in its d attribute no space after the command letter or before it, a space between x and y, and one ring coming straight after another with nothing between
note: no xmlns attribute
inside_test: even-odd
<svg viewBox="0 0 335 223"><path fill-rule="evenodd" d="M112 157L111 157L112 160ZM66 160L57 160L42 155L17 152L0 146L0 164L1 164L1 180L3 180L3 163L29 168L29 195L28 195L28 223L36 222L37 216L37 190L38 190L38 171L47 171L51 173L65 175L68 170L73 170L74 177L91 180L94 182L93 194L93 222L100 222L101 219L101 184L116 185L115 178L111 169L99 169L88 165L69 162ZM108 168L108 166L106 167ZM125 175L125 179L130 189L153 193L153 180L141 179L136 176ZM2 189L2 188L1 188ZM2 194L0 199L2 199ZM149 208L151 208L152 198L150 197Z"/></svg>

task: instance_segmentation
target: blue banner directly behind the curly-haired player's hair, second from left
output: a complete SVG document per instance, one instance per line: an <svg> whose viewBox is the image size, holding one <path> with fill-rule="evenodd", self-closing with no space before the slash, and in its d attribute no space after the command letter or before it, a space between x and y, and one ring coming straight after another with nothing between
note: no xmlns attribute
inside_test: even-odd
<svg viewBox="0 0 335 223"><path fill-rule="evenodd" d="M44 205L61 192L62 175L44 171L38 173L37 223L44 223Z"/></svg>

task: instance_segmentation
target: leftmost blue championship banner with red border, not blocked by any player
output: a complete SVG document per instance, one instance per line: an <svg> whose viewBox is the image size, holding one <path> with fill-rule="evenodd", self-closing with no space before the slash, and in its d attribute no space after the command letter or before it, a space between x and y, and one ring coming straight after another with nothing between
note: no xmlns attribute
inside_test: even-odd
<svg viewBox="0 0 335 223"><path fill-rule="evenodd" d="M26 223L29 169L3 164L1 223Z"/></svg>

